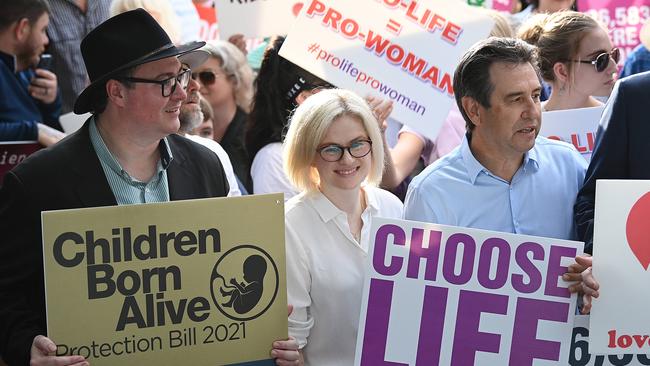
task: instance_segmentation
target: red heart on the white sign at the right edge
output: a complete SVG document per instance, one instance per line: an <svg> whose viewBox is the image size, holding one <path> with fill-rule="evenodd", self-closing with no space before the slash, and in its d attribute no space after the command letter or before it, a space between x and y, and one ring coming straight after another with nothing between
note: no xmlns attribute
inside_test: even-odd
<svg viewBox="0 0 650 366"><path fill-rule="evenodd" d="M648 270L650 265L650 192L644 194L632 206L627 216L625 232L627 244L639 263Z"/></svg>

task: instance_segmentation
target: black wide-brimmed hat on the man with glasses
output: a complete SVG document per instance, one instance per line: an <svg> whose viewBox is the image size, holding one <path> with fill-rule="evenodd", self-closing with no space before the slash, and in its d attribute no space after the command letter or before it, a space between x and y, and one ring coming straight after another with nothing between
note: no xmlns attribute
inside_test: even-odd
<svg viewBox="0 0 650 366"><path fill-rule="evenodd" d="M91 112L96 92L104 88L112 76L125 69L180 55L186 55L183 62L190 67L198 66L195 63L202 63L205 55L194 54L192 51L203 45L205 42L191 42L176 47L158 22L144 9L127 11L109 18L81 41L81 54L88 70L90 85L77 97L74 112Z"/></svg>

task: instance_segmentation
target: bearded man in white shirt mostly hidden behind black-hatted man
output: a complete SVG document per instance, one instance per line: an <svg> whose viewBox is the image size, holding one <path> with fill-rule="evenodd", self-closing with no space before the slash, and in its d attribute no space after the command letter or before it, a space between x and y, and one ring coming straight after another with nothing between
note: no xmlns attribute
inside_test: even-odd
<svg viewBox="0 0 650 366"><path fill-rule="evenodd" d="M207 58L207 53L203 53ZM241 196L241 191L239 190L239 184L235 173L232 169L232 164L230 163L230 158L228 153L219 145L218 142L214 140L209 140L201 136L191 135L190 133L194 128L203 122L203 113L201 112L200 100L201 94L199 93L199 83L194 79L190 79L187 84L187 98L181 105L181 112L178 116L181 127L178 129L178 134L185 136L186 138L196 142L197 144L203 145L208 149L212 150L219 161L223 166L223 171L226 173L226 179L228 180L228 185L230 190L228 191L228 197Z"/></svg>

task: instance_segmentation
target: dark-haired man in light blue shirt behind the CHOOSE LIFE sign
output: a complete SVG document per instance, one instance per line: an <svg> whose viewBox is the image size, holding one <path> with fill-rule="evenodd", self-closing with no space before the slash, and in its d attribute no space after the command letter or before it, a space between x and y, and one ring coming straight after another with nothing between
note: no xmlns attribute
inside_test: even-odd
<svg viewBox="0 0 650 366"><path fill-rule="evenodd" d="M539 71L533 48L490 38L454 75L467 123L461 146L409 186L409 220L574 239L573 204L586 161L569 144L538 137Z"/></svg>

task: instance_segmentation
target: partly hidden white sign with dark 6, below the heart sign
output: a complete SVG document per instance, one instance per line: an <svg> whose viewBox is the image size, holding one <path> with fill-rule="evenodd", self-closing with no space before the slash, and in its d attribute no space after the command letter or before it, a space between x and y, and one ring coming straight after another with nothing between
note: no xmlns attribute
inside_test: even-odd
<svg viewBox="0 0 650 366"><path fill-rule="evenodd" d="M598 355L589 353L589 315L577 315L571 336L569 366L643 366L650 365L650 356L643 353Z"/></svg>

